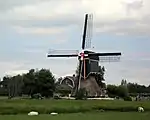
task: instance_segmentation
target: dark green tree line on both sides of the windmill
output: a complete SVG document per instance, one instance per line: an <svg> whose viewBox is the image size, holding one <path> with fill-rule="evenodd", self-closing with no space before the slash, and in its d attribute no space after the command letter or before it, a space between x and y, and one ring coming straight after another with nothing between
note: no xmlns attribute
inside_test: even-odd
<svg viewBox="0 0 150 120"><path fill-rule="evenodd" d="M103 77L103 74L102 74ZM55 76L48 69L30 69L28 73L15 76L4 76L0 81L0 96L8 98L27 95L34 97L40 94L42 97L53 97L56 92L68 94L68 86L60 86ZM107 94L109 97L137 96L140 93L150 93L150 85L144 86L137 83L127 83L122 80L120 85L107 85Z"/></svg>

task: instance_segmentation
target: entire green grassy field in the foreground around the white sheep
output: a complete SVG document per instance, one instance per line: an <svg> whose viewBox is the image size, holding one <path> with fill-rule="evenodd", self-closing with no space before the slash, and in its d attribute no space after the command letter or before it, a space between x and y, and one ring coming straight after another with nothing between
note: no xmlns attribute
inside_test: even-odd
<svg viewBox="0 0 150 120"><path fill-rule="evenodd" d="M137 112L139 106L144 113ZM40 115L28 116L30 111ZM52 116L51 112L59 114ZM0 99L0 114L0 120L149 120L150 102Z"/></svg>

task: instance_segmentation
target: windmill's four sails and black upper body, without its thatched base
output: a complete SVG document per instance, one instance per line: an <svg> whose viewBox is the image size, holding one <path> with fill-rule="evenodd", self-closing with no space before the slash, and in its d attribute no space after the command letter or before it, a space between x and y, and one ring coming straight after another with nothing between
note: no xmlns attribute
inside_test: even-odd
<svg viewBox="0 0 150 120"><path fill-rule="evenodd" d="M116 62L119 61L121 53L97 53L88 48L91 47L91 36L92 36L92 25L93 16L92 14L85 14L85 22L83 29L83 38L81 44L81 52L78 50L50 50L47 57L78 57L79 69L76 80L76 91L81 87L82 81L87 81L87 79L92 75L97 75L99 73L99 61L101 62ZM82 82L82 86L86 82ZM94 85L91 85L92 87Z"/></svg>

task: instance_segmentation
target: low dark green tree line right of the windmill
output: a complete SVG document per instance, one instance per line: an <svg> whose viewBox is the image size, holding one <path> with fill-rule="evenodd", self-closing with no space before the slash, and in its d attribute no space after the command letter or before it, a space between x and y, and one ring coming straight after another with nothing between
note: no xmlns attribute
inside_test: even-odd
<svg viewBox="0 0 150 120"><path fill-rule="evenodd" d="M137 96L150 96L150 85L144 86L137 83L127 83L126 80L122 80L120 85L107 85L107 93L110 97L120 97L128 99L130 97Z"/></svg>

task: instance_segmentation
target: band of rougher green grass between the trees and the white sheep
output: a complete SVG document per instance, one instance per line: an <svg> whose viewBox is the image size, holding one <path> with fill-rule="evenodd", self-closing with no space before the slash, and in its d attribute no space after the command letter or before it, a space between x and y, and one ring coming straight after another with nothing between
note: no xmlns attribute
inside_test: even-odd
<svg viewBox="0 0 150 120"><path fill-rule="evenodd" d="M101 101L101 100L0 100L0 114L27 114L30 111L38 111L41 114L50 112L77 113L96 111L137 111L137 107L144 107L150 111L150 102L132 101Z"/></svg>

